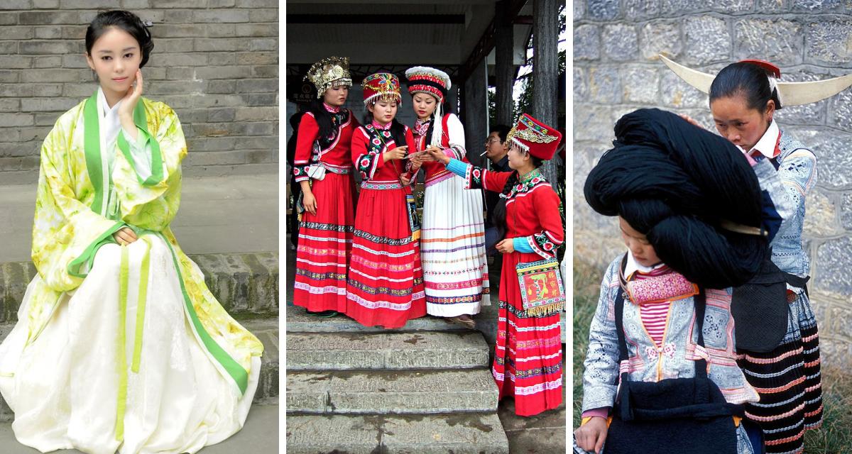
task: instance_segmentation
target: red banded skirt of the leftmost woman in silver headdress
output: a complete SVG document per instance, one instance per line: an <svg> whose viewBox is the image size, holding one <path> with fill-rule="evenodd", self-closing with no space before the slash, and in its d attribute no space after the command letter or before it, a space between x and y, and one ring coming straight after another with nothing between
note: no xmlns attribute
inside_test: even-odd
<svg viewBox="0 0 852 454"><path fill-rule="evenodd" d="M317 214L299 223L293 303L309 311L346 310L346 273L354 231L353 177L326 172L311 192Z"/></svg>

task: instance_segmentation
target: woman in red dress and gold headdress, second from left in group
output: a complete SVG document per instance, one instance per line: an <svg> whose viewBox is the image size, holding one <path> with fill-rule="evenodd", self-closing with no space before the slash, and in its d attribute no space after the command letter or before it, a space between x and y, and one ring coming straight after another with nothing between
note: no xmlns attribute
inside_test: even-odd
<svg viewBox="0 0 852 454"><path fill-rule="evenodd" d="M378 72L362 86L373 120L352 135L352 161L362 181L346 314L361 325L400 328L426 314L417 213L406 201L411 187L400 180L414 137L394 120L402 101L399 78Z"/></svg>

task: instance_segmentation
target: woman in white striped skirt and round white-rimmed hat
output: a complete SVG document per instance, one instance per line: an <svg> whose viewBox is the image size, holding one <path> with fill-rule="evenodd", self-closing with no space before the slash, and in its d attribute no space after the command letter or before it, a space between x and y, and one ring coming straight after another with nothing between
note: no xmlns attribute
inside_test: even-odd
<svg viewBox="0 0 852 454"><path fill-rule="evenodd" d="M435 68L414 66L406 78L417 114L413 130L417 152L433 148L468 162L462 122L446 105L450 77ZM464 191L464 181L429 153L409 161L406 179L414 181L421 164L426 172L420 238L426 312L473 329L470 316L489 303L482 193Z"/></svg>

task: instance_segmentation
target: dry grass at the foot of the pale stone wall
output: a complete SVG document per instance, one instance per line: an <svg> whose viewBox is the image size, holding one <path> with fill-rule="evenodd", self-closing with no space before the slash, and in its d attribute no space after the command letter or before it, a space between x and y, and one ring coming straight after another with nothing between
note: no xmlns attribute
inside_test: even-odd
<svg viewBox="0 0 852 454"><path fill-rule="evenodd" d="M583 360L589 345L589 325L600 292L602 270L574 261L573 424L580 420L583 401ZM805 434L807 454L852 453L852 375L839 367L822 366L822 427Z"/></svg>

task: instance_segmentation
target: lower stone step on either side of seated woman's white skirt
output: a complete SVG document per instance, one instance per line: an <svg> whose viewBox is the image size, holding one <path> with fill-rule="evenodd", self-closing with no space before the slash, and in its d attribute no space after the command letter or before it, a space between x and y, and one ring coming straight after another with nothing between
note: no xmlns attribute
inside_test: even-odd
<svg viewBox="0 0 852 454"><path fill-rule="evenodd" d="M241 322L245 329L250 330L263 344L261 358L261 375L257 382L254 405L278 405L279 388L279 330L278 318L252 319ZM0 342L9 335L13 323L0 325ZM0 396L0 422L12 421L12 411Z"/></svg>

